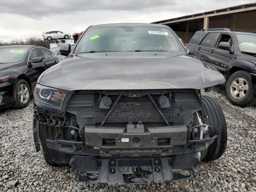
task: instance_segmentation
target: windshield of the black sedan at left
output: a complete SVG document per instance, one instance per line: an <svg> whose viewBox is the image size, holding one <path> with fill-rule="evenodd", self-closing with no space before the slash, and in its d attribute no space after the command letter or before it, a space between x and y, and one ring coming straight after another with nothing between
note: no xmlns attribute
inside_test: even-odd
<svg viewBox="0 0 256 192"><path fill-rule="evenodd" d="M21 62L27 51L27 48L0 48L0 64Z"/></svg>

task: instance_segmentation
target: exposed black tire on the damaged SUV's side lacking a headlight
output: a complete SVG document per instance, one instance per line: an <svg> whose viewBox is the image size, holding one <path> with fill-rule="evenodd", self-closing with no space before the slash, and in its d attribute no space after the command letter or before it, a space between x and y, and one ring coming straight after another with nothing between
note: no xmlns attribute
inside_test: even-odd
<svg viewBox="0 0 256 192"><path fill-rule="evenodd" d="M228 132L225 116L220 105L207 96L202 96L202 115L203 123L210 125L203 138L213 137L214 135L218 137L205 151L201 152L201 160L216 160L222 156L227 145Z"/></svg>

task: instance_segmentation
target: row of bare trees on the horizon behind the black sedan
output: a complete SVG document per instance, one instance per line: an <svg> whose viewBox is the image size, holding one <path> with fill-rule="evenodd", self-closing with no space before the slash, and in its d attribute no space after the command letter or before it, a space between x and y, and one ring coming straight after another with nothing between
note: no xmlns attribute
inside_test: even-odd
<svg viewBox="0 0 256 192"><path fill-rule="evenodd" d="M14 39L11 40L10 42L4 42L3 40L0 39L0 46L6 46L6 45L36 45L36 46L42 46L45 48L50 48L50 43L54 43L54 41L52 42L48 42L45 40L42 40L40 38L37 37L30 37L28 39L26 39L25 41L20 39Z"/></svg>

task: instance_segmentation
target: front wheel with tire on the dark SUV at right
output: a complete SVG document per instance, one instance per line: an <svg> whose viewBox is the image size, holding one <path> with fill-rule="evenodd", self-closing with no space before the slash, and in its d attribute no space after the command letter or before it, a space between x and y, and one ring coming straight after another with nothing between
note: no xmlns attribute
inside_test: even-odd
<svg viewBox="0 0 256 192"><path fill-rule="evenodd" d="M234 72L227 80L226 95L234 105L254 106L256 104L256 96L253 92L250 72Z"/></svg>

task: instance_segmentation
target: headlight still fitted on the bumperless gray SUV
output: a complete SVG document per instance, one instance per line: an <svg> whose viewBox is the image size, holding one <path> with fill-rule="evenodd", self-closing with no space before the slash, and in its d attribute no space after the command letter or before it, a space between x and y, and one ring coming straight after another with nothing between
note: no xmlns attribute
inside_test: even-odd
<svg viewBox="0 0 256 192"><path fill-rule="evenodd" d="M37 84L34 90L34 98L37 101L55 106L63 106L67 94L68 92L66 91L57 90L40 84Z"/></svg>

